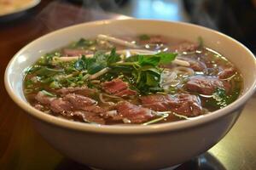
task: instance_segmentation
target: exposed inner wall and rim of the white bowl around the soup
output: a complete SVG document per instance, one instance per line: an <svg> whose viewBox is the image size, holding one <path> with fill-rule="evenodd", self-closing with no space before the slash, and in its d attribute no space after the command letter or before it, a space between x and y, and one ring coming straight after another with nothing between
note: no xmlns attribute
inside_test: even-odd
<svg viewBox="0 0 256 170"><path fill-rule="evenodd" d="M56 48L61 48L70 42L78 40L80 37L96 37L97 34L137 35L145 33L159 34L167 37L178 37L192 42L195 42L198 37L202 37L207 47L218 51L220 54L223 54L241 71L241 74L244 77L244 90L241 99L236 100L236 102L220 111L216 111L215 116L212 116L213 114L208 114L207 116L202 117L202 119L212 119L214 117L216 118L217 116L221 116L222 114L226 114L236 109L235 107L244 104L250 95L253 94L256 80L255 59L253 58L253 54L240 42L236 42L236 40L227 37L224 34L201 26L157 20L102 20L67 27L65 29L61 29L60 31L52 32L44 37L40 37L34 42L28 44L25 48L22 48L20 52L15 54L15 57L10 61L5 74L6 88L15 102L34 116L39 116L43 119L46 117L44 120L48 122L62 123L64 121L69 127L77 125L86 127L88 125L84 125L85 123L68 122L65 120L58 120L59 118L55 118L53 116L47 116L28 105L22 92L22 81L26 68L29 65L32 65L42 54L50 52ZM203 121L204 120L195 119L195 121L192 122L196 123ZM169 124L170 126L172 124L171 127L174 127L180 123L189 123L189 121L172 122ZM159 128L165 125L156 126ZM149 126L148 128L151 127Z"/></svg>

